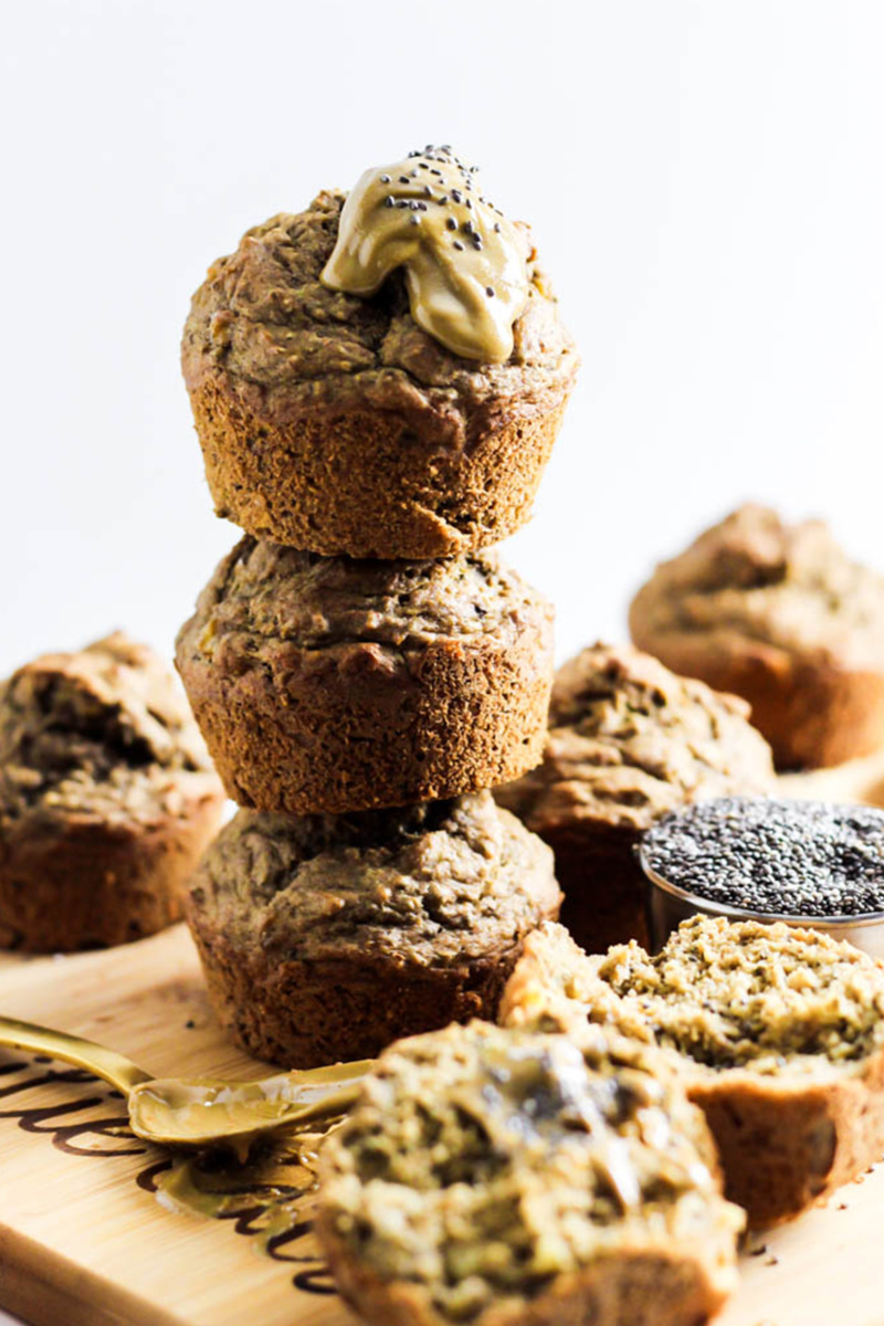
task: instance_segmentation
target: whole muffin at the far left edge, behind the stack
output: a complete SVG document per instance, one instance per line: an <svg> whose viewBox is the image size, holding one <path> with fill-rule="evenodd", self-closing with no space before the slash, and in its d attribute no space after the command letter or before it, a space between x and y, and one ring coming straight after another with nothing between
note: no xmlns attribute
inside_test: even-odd
<svg viewBox="0 0 884 1326"><path fill-rule="evenodd" d="M178 920L224 793L175 676L122 633L0 687L0 945L69 952Z"/></svg>

